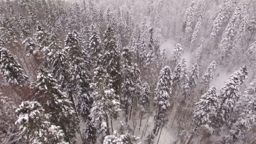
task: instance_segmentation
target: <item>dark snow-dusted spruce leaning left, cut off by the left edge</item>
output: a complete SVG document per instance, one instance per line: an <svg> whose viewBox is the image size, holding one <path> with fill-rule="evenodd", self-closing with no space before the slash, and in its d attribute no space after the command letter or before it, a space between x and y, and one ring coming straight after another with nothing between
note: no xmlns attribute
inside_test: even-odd
<svg viewBox="0 0 256 144"><path fill-rule="evenodd" d="M0 69L9 85L26 85L28 83L28 76L16 57L3 47L0 47Z"/></svg>

